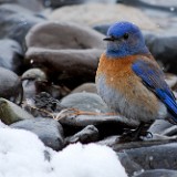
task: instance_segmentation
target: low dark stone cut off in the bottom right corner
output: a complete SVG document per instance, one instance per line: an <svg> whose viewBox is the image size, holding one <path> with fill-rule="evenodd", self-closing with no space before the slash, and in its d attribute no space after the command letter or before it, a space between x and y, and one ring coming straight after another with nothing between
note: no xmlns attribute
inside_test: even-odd
<svg viewBox="0 0 177 177"><path fill-rule="evenodd" d="M177 170L170 169L153 169L146 170L139 175L135 175L134 177L176 177Z"/></svg>

